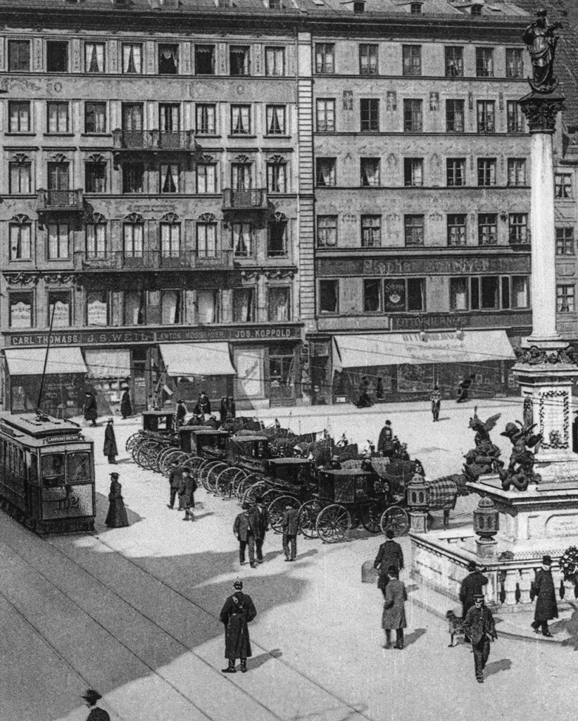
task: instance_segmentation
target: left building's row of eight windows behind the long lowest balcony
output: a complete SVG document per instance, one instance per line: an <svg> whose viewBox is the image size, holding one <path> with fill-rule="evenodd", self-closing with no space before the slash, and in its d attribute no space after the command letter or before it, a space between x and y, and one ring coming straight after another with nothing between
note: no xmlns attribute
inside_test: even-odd
<svg viewBox="0 0 578 721"><path fill-rule="evenodd" d="M87 259L107 259L111 251L109 228L106 223L86 224L84 253ZM150 236L149 241L150 241ZM71 260L72 229L67 223L49 223L46 226L46 257L48 260ZM233 223L230 245L234 257L254 257L257 251L257 229L251 223ZM196 221L195 249L197 257L217 257L222 247L216 221ZM34 260L32 224L9 224L9 260ZM143 260L148 254L143 223L123 224L123 249L119 251L125 263ZM180 223L159 224L159 254L161 259L180 258L184 253ZM288 254L287 224L270 223L267 227L267 255L282 257ZM138 265L136 263L135 265Z"/></svg>

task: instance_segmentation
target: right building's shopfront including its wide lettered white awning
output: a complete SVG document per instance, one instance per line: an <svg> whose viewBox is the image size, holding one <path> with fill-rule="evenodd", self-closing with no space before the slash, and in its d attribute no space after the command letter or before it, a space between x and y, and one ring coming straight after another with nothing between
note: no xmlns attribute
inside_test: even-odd
<svg viewBox="0 0 578 721"><path fill-rule="evenodd" d="M365 379L373 402L380 400L378 385L385 402L428 399L436 384L443 397L454 398L458 384L470 376L477 398L512 394L514 364L514 350L501 329L336 335L333 397L355 402Z"/></svg>

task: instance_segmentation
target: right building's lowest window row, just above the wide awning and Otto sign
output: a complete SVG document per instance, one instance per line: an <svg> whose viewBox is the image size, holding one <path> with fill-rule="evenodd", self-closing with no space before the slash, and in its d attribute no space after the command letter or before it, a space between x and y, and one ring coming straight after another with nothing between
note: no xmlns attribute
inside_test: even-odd
<svg viewBox="0 0 578 721"><path fill-rule="evenodd" d="M339 314L339 283L339 279L319 280L319 314ZM362 283L363 313L426 310L426 278L364 278ZM450 278L449 309L526 309L530 307L528 288L527 275Z"/></svg>

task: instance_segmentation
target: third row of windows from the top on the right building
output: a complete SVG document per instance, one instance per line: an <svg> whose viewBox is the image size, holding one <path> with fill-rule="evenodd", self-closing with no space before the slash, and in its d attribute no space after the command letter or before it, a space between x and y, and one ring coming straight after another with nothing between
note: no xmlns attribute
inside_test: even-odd
<svg viewBox="0 0 578 721"><path fill-rule="evenodd" d="M478 158L476 165L476 183L469 179L466 172L466 158L447 158L445 161L445 180L448 187L479 185L489 187L497 183L497 158ZM316 159L316 185L318 187L337 187L337 158ZM391 183L391 174L387 180ZM360 158L361 187L381 187L381 159ZM420 187L427 185L424 179L424 159L404 158L404 185ZM504 185L527 185L525 158L507 159L507 177ZM566 193L567 195L562 195ZM556 198L572 197L572 174L556 174Z"/></svg>

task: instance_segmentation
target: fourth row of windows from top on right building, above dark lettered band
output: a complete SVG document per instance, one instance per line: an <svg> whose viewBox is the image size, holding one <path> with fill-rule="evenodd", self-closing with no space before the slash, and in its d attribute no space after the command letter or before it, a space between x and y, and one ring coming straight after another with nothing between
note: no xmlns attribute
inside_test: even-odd
<svg viewBox="0 0 578 721"><path fill-rule="evenodd" d="M530 242L528 213L509 213L507 237L511 245L524 245ZM384 247L382 217L363 215L360 218L360 236L362 248ZM564 229L572 231L572 229ZM477 218L478 244L480 246L497 245L498 214L479 213ZM405 246L422 247L425 237L425 216L404 215ZM448 247L468 245L468 216L466 213L448 213L446 216L446 237ZM573 237L573 236L572 236ZM337 216L317 216L317 247L337 247ZM569 255L569 254L567 254Z"/></svg>

